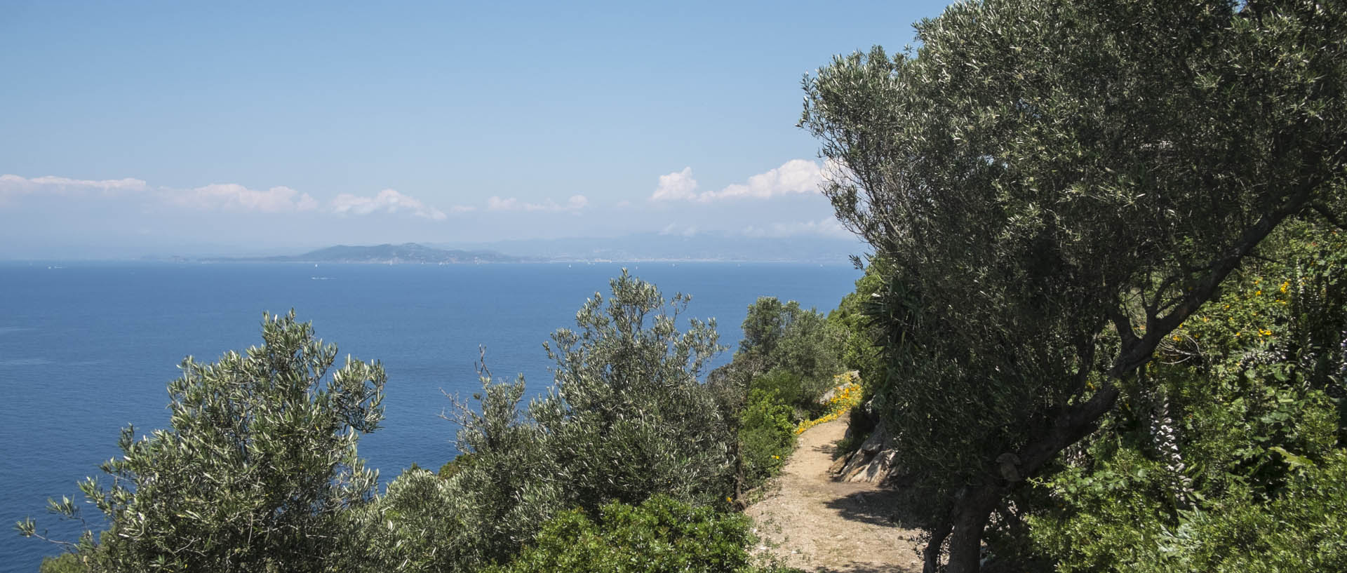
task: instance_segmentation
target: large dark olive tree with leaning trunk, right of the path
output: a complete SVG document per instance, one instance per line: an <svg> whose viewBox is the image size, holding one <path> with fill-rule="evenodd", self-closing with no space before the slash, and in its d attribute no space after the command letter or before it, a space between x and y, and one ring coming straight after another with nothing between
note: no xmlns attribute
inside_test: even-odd
<svg viewBox="0 0 1347 573"><path fill-rule="evenodd" d="M1281 222L1340 219L1342 1L985 0L806 78L838 218L889 261L882 410L977 570L1004 496L1088 434ZM1005 517L1005 515L1002 515Z"/></svg>

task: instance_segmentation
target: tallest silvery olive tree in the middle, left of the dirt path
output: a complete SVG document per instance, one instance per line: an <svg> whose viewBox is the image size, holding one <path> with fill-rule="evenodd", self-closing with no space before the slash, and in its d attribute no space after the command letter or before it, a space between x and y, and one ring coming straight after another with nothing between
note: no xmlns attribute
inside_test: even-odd
<svg viewBox="0 0 1347 573"><path fill-rule="evenodd" d="M727 414L700 382L723 347L715 319L679 319L691 301L625 270L613 296L589 299L578 331L547 346L556 362L552 395L532 409L563 448L559 479L581 507L637 504L655 494L709 504L727 487L734 436Z"/></svg>

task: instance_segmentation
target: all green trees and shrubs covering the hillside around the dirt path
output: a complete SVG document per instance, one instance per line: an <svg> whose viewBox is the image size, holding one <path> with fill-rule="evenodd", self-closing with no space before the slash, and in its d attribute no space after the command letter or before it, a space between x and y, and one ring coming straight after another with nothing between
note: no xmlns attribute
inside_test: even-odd
<svg viewBox="0 0 1347 573"><path fill-rule="evenodd" d="M624 272L546 394L484 365L463 453L383 492L381 366L268 316L44 568L770 570L740 510L845 416L894 514L857 519L928 573L1347 570L1347 3L964 1L917 40L804 79L869 249L832 313L760 299L704 373L714 321Z"/></svg>

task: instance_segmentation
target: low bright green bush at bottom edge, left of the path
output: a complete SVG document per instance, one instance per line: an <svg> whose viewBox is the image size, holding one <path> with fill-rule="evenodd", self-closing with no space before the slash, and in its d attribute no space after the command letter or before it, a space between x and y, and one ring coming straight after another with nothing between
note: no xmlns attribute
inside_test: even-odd
<svg viewBox="0 0 1347 573"><path fill-rule="evenodd" d="M488 573L749 573L749 519L657 495L613 502L598 519L563 511L508 565Z"/></svg>

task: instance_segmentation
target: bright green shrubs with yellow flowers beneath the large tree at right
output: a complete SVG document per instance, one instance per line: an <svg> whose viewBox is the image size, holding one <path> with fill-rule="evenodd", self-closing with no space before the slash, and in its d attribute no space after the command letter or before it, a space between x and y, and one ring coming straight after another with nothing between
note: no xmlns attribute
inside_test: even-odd
<svg viewBox="0 0 1347 573"><path fill-rule="evenodd" d="M1347 569L1347 238L1289 229L1043 487L1063 572Z"/></svg>

